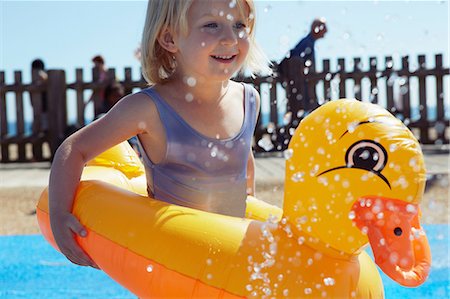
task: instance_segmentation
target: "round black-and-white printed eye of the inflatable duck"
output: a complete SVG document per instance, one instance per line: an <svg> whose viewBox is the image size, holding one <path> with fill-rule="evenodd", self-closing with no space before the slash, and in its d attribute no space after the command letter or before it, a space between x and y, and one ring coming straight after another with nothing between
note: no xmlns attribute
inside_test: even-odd
<svg viewBox="0 0 450 299"><path fill-rule="evenodd" d="M387 162L384 147L372 140L361 140L354 143L347 151L345 163L347 167L361 168L381 172Z"/></svg>

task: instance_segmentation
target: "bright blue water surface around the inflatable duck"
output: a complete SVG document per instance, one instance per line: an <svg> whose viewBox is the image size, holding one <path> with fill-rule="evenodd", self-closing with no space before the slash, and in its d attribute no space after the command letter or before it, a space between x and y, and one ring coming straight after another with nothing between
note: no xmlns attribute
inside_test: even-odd
<svg viewBox="0 0 450 299"><path fill-rule="evenodd" d="M449 225L426 225L433 254L428 280L405 288L384 274L387 299L449 298ZM68 262L42 236L0 237L0 298L135 298L102 271Z"/></svg>

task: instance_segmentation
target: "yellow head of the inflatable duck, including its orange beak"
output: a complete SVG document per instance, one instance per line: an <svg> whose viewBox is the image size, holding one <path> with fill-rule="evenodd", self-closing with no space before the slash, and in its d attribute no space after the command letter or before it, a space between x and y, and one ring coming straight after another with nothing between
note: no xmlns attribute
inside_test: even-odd
<svg viewBox="0 0 450 299"><path fill-rule="evenodd" d="M303 119L287 157L284 216L316 240L312 246L354 255L370 243L392 279L425 281L431 254L418 206L425 165L400 120L374 104L331 101Z"/></svg>

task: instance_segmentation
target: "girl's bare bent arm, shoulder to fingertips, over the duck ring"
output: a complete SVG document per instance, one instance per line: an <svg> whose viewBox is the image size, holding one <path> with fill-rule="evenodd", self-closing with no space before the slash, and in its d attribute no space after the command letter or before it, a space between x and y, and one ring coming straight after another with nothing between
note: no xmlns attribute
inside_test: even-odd
<svg viewBox="0 0 450 299"><path fill-rule="evenodd" d="M105 116L67 138L56 151L49 182L50 225L59 249L75 264L96 267L74 239L75 234L86 236L71 213L83 167L108 148L146 131L146 119L156 109L145 97L135 94L123 98Z"/></svg>

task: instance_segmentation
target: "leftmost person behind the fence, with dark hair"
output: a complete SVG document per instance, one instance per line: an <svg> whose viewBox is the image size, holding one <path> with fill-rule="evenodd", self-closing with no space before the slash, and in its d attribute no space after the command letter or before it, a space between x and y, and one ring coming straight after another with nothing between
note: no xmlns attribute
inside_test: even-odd
<svg viewBox="0 0 450 299"><path fill-rule="evenodd" d="M31 82L36 85L46 84L48 80L47 72L45 71L45 64L42 59L38 58L31 62ZM47 92L43 91L40 93L41 95L41 103L38 105L35 98L31 98L31 105L34 110L40 109L37 111L40 115L40 132L48 131L48 99ZM32 95L33 96L33 95Z"/></svg>

